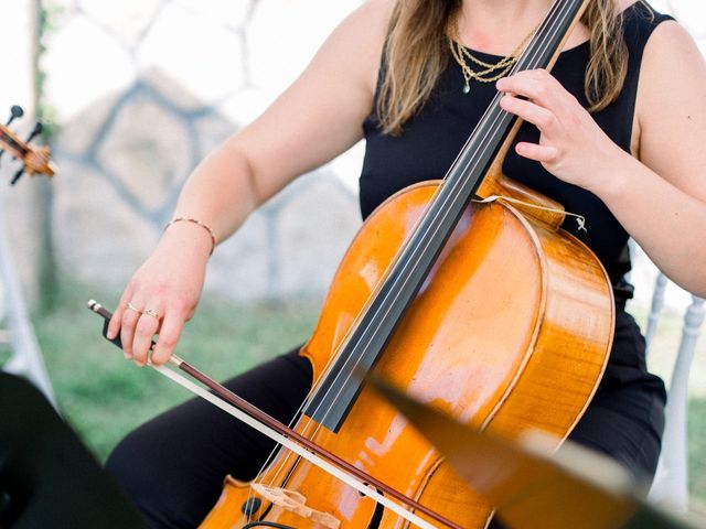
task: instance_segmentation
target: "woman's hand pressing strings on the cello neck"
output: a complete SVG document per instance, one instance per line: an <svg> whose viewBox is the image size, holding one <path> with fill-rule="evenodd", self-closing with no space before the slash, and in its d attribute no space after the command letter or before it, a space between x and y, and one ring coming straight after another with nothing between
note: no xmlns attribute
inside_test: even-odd
<svg viewBox="0 0 706 529"><path fill-rule="evenodd" d="M520 72L496 86L505 94L500 106L539 129L539 143L518 142L517 154L541 162L565 182L597 193L601 177L610 175L625 152L578 100L546 69Z"/></svg>

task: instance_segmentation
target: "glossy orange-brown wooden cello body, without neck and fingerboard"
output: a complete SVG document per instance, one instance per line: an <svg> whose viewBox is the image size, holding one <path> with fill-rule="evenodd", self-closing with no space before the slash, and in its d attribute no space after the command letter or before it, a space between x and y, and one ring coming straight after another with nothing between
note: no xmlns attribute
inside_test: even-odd
<svg viewBox="0 0 706 529"><path fill-rule="evenodd" d="M439 185L400 191L354 238L301 349L313 366L314 387ZM494 185L505 196L550 204L507 179ZM614 326L606 271L559 228L563 218L560 212L523 207L521 213L502 201L471 203L375 364L375 375L463 423L510 439L536 429L558 445L598 387ZM492 507L368 388L338 432L307 415L296 430L460 527L484 528L492 517ZM228 476L200 527L242 528L253 520L298 529L410 527L287 450L257 482L275 493L259 497L258 508L245 516L254 497L250 484Z"/></svg>

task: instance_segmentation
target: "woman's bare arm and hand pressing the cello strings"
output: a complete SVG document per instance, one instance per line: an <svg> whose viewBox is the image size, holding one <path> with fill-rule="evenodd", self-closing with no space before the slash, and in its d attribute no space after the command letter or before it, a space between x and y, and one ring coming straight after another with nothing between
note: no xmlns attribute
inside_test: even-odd
<svg viewBox="0 0 706 529"><path fill-rule="evenodd" d="M547 72L522 72L498 87L501 106L541 131L539 143L517 143L517 153L599 196L657 267L706 295L706 66L686 32L664 22L645 47L638 158Z"/></svg>

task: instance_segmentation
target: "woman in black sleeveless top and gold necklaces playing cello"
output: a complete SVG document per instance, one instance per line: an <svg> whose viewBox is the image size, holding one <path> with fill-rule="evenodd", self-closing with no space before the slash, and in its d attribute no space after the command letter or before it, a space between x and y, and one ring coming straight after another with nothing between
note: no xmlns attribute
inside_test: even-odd
<svg viewBox="0 0 706 529"><path fill-rule="evenodd" d="M614 285L613 348L570 439L652 476L665 393L624 312L627 241L706 294L706 67L686 32L646 3L591 0L552 74L507 76L550 4L372 0L352 13L263 116L194 170L110 323L126 356L145 365L158 333L151 358L167 361L196 309L215 242L297 175L365 138L367 217L397 191L443 175L501 90L502 108L525 120L503 172L586 218L585 240ZM582 237L570 223L564 228ZM288 422L311 384L311 366L295 350L225 386ZM152 527L195 527L223 477L252 478L271 447L191 401L128 435L107 466Z"/></svg>

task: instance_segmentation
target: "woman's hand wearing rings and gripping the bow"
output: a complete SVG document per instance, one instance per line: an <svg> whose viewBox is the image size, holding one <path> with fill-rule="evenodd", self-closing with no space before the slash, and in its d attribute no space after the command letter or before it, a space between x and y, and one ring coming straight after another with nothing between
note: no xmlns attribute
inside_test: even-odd
<svg viewBox="0 0 706 529"><path fill-rule="evenodd" d="M159 366L169 360L196 310L211 250L211 237L202 226L182 222L164 231L130 279L108 325L108 338L120 334L126 358L145 366L159 334L151 361Z"/></svg>

